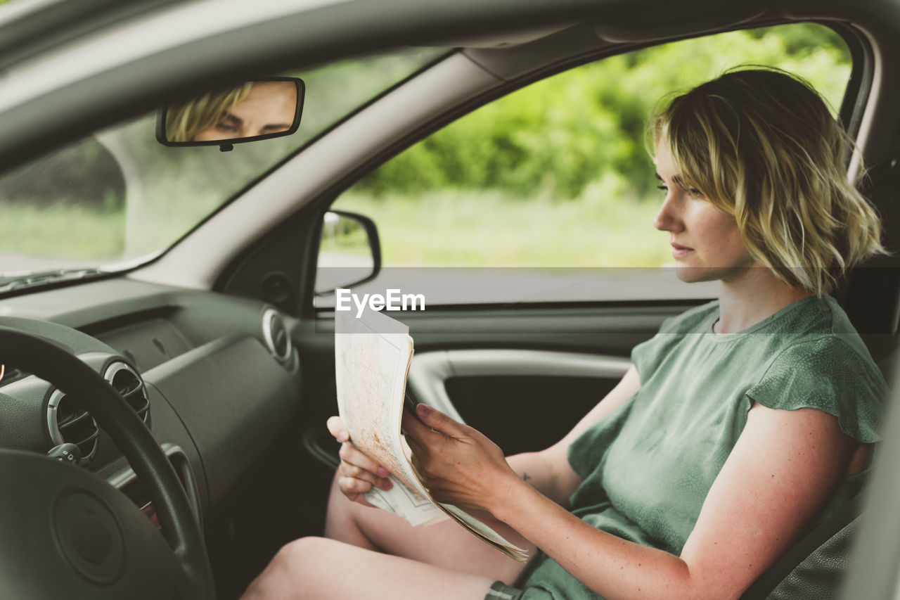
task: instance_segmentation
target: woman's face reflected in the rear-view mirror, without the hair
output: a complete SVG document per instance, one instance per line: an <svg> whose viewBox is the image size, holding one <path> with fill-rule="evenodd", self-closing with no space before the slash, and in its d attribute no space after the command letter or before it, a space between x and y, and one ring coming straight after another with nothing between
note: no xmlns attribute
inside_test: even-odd
<svg viewBox="0 0 900 600"><path fill-rule="evenodd" d="M292 81L261 81L247 97L222 114L219 123L193 136L196 141L248 138L291 128L297 108L297 86Z"/></svg>

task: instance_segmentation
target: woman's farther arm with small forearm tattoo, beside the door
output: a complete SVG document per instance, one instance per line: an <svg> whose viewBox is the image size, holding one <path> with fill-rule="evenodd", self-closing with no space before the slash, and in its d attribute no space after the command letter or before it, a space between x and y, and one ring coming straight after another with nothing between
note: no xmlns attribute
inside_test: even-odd
<svg viewBox="0 0 900 600"><path fill-rule="evenodd" d="M569 446L581 433L606 417L641 387L637 370L631 367L625 376L604 396L590 413L581 418L572 431L553 446L539 452L524 452L510 456L509 466L529 486L561 506L569 505L569 496L581 484L581 476L569 465Z"/></svg>

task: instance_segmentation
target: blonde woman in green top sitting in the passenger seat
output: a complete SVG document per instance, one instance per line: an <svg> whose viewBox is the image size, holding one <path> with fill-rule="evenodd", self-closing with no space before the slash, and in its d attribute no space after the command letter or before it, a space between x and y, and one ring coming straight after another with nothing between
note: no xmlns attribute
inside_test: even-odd
<svg viewBox="0 0 900 600"><path fill-rule="evenodd" d="M387 473L333 417L331 539L285 546L246 597L736 598L854 491L887 388L825 295L883 251L847 181L845 136L809 86L769 69L676 97L652 132L653 224L679 277L719 280L719 299L637 346L547 450L504 459L427 406L404 415L433 495L542 550L524 592L509 587L521 565L455 524L416 529L366 507Z"/></svg>

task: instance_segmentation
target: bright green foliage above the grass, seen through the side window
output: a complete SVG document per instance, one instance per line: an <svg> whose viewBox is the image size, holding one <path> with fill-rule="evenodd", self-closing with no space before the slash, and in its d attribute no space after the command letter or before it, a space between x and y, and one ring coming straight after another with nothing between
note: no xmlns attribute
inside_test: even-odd
<svg viewBox="0 0 900 600"><path fill-rule="evenodd" d="M850 56L813 23L728 32L599 60L485 105L404 151L356 189L384 196L496 188L570 199L614 172L641 197L653 183L644 128L654 105L726 68L764 64L806 77L837 107Z"/></svg>

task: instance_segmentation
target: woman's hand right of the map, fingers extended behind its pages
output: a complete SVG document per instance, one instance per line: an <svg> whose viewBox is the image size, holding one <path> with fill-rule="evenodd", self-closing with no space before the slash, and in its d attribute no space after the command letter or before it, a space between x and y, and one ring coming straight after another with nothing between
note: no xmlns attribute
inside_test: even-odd
<svg viewBox="0 0 900 600"><path fill-rule="evenodd" d="M491 512L521 482L482 432L427 405L418 405L416 414L403 411L412 466L439 502Z"/></svg>

